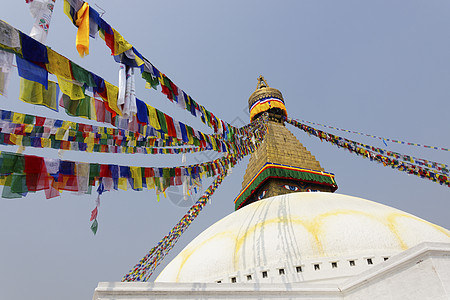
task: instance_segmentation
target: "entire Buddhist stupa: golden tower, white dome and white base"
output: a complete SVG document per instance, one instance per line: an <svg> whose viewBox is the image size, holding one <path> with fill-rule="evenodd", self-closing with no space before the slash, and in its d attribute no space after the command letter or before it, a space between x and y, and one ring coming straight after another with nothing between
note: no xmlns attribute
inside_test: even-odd
<svg viewBox="0 0 450 300"><path fill-rule="evenodd" d="M335 193L333 173L285 127L262 76L250 120L269 114L236 211L190 242L152 283L99 283L94 299L449 299L450 231Z"/></svg>

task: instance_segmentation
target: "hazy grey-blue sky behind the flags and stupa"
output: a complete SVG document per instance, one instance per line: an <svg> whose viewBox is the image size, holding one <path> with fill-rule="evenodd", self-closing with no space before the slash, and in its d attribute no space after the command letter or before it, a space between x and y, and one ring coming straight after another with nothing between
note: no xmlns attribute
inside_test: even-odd
<svg viewBox="0 0 450 300"><path fill-rule="evenodd" d="M34 20L23 0L2 0L0 18L29 33ZM160 71L218 117L248 122L247 100L257 77L284 96L293 118L387 138L450 147L450 3L448 1L106 1L104 19ZM100 10L100 9L98 9ZM90 55L75 49L76 28L57 0L47 45L117 84L118 64L101 39ZM0 108L60 119L64 112L18 100L17 70ZM137 96L174 118L210 133L160 91ZM84 119L72 118L81 123ZM287 125L336 174L338 193L358 196L450 228L450 190L357 157ZM323 129L323 128L319 128ZM327 130L359 142L450 163L450 153L388 144ZM1 147L16 151L16 147ZM54 157L48 149L25 154ZM189 155L188 163L214 153ZM64 159L140 166L175 166L180 156L64 153ZM234 210L247 160L227 177L209 204L166 258ZM210 180L204 181L204 187ZM89 226L96 195L43 192L0 199L0 298L90 299L99 281L120 281L184 215L177 189L158 203L154 191L102 196L99 230ZM165 264L163 264L165 265ZM156 273L159 273L161 268ZM156 278L156 276L154 277ZM154 279L153 278L153 279Z"/></svg>

